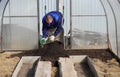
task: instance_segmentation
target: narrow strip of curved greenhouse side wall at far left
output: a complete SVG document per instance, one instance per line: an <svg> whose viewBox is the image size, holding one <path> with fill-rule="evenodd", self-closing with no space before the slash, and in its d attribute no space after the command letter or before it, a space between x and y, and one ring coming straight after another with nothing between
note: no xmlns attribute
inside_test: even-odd
<svg viewBox="0 0 120 77"><path fill-rule="evenodd" d="M8 0L0 0L0 50L1 50L1 46L2 46L2 35L1 35L1 31L2 31L2 14L4 11L4 8L6 6Z"/></svg>

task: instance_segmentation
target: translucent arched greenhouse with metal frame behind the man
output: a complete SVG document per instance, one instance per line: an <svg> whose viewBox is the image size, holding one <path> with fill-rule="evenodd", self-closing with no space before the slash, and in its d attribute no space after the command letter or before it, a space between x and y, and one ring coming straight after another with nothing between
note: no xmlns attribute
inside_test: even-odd
<svg viewBox="0 0 120 77"><path fill-rule="evenodd" d="M120 0L0 0L0 52L40 49L50 11L63 15L64 50L108 49L120 59Z"/></svg>

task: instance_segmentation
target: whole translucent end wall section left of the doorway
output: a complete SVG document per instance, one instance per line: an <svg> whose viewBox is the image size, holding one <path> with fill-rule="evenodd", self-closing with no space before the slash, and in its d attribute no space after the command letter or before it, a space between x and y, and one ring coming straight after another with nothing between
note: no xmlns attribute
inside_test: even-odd
<svg viewBox="0 0 120 77"><path fill-rule="evenodd" d="M9 0L2 31L3 50L37 49L37 0Z"/></svg>

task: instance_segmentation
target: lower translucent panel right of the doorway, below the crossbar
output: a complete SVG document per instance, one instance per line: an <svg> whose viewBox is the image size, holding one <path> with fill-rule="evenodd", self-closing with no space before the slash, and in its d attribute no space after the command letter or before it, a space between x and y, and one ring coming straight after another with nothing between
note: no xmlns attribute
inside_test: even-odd
<svg viewBox="0 0 120 77"><path fill-rule="evenodd" d="M72 17L72 21L72 49L107 48L105 16Z"/></svg>

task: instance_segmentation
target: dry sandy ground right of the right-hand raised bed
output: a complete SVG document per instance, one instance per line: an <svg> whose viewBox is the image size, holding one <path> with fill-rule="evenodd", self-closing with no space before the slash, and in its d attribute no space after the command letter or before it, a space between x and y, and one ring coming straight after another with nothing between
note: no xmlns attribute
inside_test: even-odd
<svg viewBox="0 0 120 77"><path fill-rule="evenodd" d="M99 77L120 77L120 64L115 59L107 60L107 62L93 59L93 62Z"/></svg>

